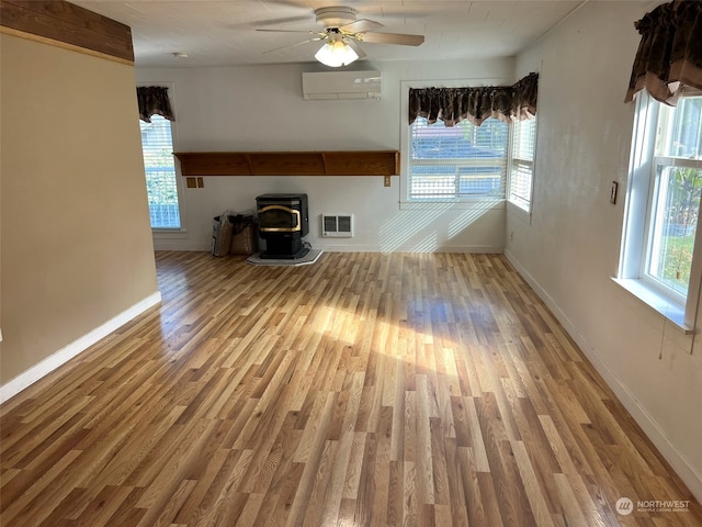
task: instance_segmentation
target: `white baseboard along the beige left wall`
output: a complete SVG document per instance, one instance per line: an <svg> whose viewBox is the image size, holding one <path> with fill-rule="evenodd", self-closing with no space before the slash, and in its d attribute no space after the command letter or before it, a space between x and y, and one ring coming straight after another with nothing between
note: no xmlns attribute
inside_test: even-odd
<svg viewBox="0 0 702 527"><path fill-rule="evenodd" d="M132 307L123 311L117 316L95 327L93 330L83 335L82 337L77 338L68 346L63 347L61 349L42 360L41 362L34 365L23 373L20 373L11 381L2 384L0 386L0 403L4 403L7 400L13 397L25 388L34 384L36 381L47 375L59 366L69 361L70 359L95 344L101 338L106 337L112 332L118 329L121 326L140 315L149 307L158 304L160 301L160 292L157 291L156 293L150 294L146 299L134 304Z"/></svg>

